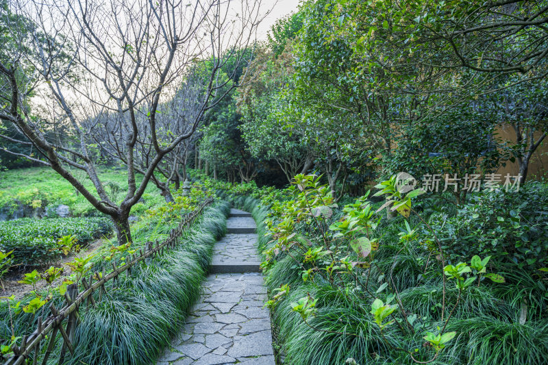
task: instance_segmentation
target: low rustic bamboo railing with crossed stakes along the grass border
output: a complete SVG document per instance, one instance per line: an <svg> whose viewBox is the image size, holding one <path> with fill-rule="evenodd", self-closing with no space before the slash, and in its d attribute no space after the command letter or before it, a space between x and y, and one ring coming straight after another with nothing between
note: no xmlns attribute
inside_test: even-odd
<svg viewBox="0 0 548 365"><path fill-rule="evenodd" d="M181 223L177 228L172 229L169 237L163 242L146 242L145 251L142 249L139 250L139 255L132 254L129 255L129 262L126 262L123 266L116 268L114 263L112 264L112 271L105 275L105 270L103 268L102 275L95 272L92 273L89 277L89 281L86 278L82 279L82 285L84 286L84 291L78 293L77 284L71 284L67 286L66 292L64 294L66 303L61 309L55 308L54 305L50 305L49 309L51 315L48 316L45 320L42 320L42 316L38 317L38 326L32 334L29 336L23 336L21 341L21 346L16 346L15 344L12 347L14 355L8 358L3 365L19 365L25 364L25 361L29 355L34 351L35 355L33 357L33 364L38 364L38 356L40 355L40 344L46 336L51 333L49 337L49 344L47 345L46 353L42 359L42 365L47 364L49 355L53 351L55 346L55 338L58 335L58 332L61 333L63 344L60 353L60 358L58 364L62 364L66 357L66 351L69 353L74 353L73 341L74 334L78 323L81 319L79 318L78 309L82 303L86 302L88 305L95 306L97 303L93 297L93 293L99 290L98 301L101 301L103 297L103 292L105 292L105 283L116 279L121 273L128 271L131 273L132 267L135 266L138 262L145 260L145 263L149 263L149 259L158 254L163 254L164 249L169 247L175 247L179 243L179 238L182 235L182 232L186 227L190 227L192 222L195 221L196 217L202 212L203 208L213 202L213 199L207 199L201 203L197 209L193 210L182 219ZM95 281L94 281L95 280ZM66 320L66 321L65 321ZM66 322L66 325L63 327L63 323Z"/></svg>

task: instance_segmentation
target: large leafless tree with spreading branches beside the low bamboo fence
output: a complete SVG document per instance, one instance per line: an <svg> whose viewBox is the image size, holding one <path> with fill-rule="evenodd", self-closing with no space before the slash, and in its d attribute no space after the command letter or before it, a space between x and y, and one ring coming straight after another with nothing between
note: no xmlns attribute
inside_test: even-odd
<svg viewBox="0 0 548 365"><path fill-rule="evenodd" d="M25 139L18 142L34 151L20 155L53 168L112 218L120 243L130 242L129 212L158 164L192 136L203 113L224 96L216 95L216 90L225 85L215 81L225 67L226 50L233 50L230 55L236 64L245 62L245 53L239 50L253 42L261 20L260 0L243 0L237 10L230 0L21 0L16 5L14 11L25 14L36 27L34 53L14 50L10 62L0 63L11 96L9 103L1 105L0 119L20 130ZM66 60L66 55L71 58ZM29 95L21 92L16 77L21 57L39 73L40 95L55 101L47 105L47 118L36 120L29 110ZM206 58L211 64L203 73L199 112L188 121L187 129L161 138L160 99L169 99L169 86L181 82L192 64ZM139 116L140 110L148 112ZM105 115L110 120L103 124ZM127 166L128 188L120 203L111 201L97 173L96 143L107 126L114 129ZM45 129L59 136L63 132L70 142L48 138ZM142 136L145 130L146 137ZM136 182L138 141L150 148L140 183ZM75 177L73 169L86 172L95 192Z"/></svg>

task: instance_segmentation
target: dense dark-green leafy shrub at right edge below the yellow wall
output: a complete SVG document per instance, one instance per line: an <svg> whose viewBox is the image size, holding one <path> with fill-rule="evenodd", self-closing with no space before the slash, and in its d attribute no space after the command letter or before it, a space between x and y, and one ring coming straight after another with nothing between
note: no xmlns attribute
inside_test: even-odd
<svg viewBox="0 0 548 365"><path fill-rule="evenodd" d="M433 214L431 225L453 262L490 255L509 268L538 273L548 266L545 184L526 184L519 192L482 192L471 197L456 216Z"/></svg>

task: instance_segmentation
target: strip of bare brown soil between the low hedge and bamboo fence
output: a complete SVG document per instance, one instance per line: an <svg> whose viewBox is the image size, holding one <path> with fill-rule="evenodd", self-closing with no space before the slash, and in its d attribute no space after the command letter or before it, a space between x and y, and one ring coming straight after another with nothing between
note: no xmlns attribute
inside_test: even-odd
<svg viewBox="0 0 548 365"><path fill-rule="evenodd" d="M23 277L25 277L25 273L30 273L32 270L38 270L38 273L42 273L47 270L49 266L63 266L64 268L63 275L61 275L59 279L53 282L54 287L58 286L58 284L60 284L65 277L69 277L71 275L71 268L69 268L69 266L66 266L67 262L72 262L74 260L74 257L84 257L90 255L90 253L97 251L97 249L101 248L103 242L103 239L95 240L88 244L86 247L84 247L79 253L72 253L71 255L62 257L58 262L55 262L55 264L27 268L27 270L14 270L12 273L8 273L8 275L2 278L3 292L1 294L1 297L10 297L12 295L15 295L15 299L21 299L25 297L25 294L32 290L32 285L20 284L17 281L23 279ZM36 284L36 288L45 288L47 285L48 284L45 280L41 280L40 282L38 282L38 284Z"/></svg>

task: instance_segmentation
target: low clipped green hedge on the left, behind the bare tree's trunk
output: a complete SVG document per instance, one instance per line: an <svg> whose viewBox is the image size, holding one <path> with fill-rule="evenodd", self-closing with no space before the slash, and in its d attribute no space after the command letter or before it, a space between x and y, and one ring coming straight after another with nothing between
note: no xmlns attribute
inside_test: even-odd
<svg viewBox="0 0 548 365"><path fill-rule="evenodd" d="M110 231L108 218L21 218L0 222L0 250L13 250L14 264L44 264L59 256L52 249L60 237L76 236L85 244Z"/></svg>

